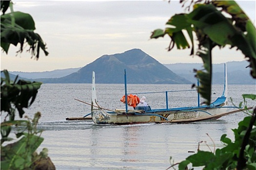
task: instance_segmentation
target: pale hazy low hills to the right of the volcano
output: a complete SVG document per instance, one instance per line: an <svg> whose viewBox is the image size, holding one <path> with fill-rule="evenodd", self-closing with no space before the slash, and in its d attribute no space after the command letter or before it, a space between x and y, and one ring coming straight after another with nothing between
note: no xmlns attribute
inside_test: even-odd
<svg viewBox="0 0 256 170"><path fill-rule="evenodd" d="M228 84L230 85L255 85L256 80L250 75L250 68L247 61L227 62ZM199 63L177 63L164 64L165 67L193 83L197 82L193 69L202 69L203 64ZM213 84L223 84L224 82L224 64L213 64Z"/></svg>

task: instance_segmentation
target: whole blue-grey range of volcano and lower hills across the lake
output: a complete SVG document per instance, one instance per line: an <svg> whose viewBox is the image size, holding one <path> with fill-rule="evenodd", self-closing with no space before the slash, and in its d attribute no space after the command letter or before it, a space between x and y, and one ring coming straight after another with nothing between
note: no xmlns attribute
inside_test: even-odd
<svg viewBox="0 0 256 170"><path fill-rule="evenodd" d="M250 68L246 68L248 65L247 61L227 62L228 84L255 85L256 80L250 76ZM30 81L37 79L37 81L44 83L91 83L91 75L94 70L97 83L123 83L123 72L126 69L128 83L176 84L182 82L178 81L179 79L186 79L182 84L188 82L191 84L191 82L197 82L193 72L194 68L202 69L203 65L200 63L162 65L145 52L133 49L124 53L103 55L83 68L67 68L44 72L10 71L10 73L13 74L13 79L15 75L19 74L21 79L27 78ZM213 64L213 84L223 84L223 75L224 64Z"/></svg>

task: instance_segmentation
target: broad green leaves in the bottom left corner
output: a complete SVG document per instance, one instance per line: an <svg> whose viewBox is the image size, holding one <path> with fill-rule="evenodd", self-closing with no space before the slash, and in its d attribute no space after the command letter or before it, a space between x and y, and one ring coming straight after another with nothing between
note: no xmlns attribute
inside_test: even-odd
<svg viewBox="0 0 256 170"><path fill-rule="evenodd" d="M43 138L37 134L36 126L41 114L35 114L34 119L4 121L1 123L1 134L8 127L16 127L18 141L3 146L1 144L1 169L3 170L24 170L30 169L34 160L33 153L42 143ZM20 130L19 130L20 129ZM9 138L9 140L13 140Z"/></svg>

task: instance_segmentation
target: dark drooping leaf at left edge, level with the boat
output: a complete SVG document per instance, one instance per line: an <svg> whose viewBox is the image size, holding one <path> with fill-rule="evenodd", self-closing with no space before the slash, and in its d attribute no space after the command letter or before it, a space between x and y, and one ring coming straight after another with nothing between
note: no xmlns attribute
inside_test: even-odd
<svg viewBox="0 0 256 170"><path fill-rule="evenodd" d="M36 99L41 83L19 80L12 82L7 70L3 70L5 78L1 77L1 112L7 112L9 121L1 123L1 144L9 141L12 123L20 124L23 121L15 121L15 110L19 111L20 118L25 113L23 108L28 108ZM3 125L4 126L3 126Z"/></svg>

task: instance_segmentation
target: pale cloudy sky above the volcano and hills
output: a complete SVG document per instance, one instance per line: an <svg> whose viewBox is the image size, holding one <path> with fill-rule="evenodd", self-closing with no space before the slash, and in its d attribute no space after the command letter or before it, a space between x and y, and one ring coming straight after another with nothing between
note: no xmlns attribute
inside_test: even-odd
<svg viewBox="0 0 256 170"><path fill-rule="evenodd" d="M14 11L30 14L36 23L35 32L46 43L48 56L40 51L39 60L11 45L8 54L1 51L1 70L22 72L80 68L102 55L141 49L161 64L202 63L190 50L167 51L170 38L150 39L156 29L175 14L184 13L178 0L13 0ZM236 1L256 22L256 0ZM25 49L28 49L25 48ZM225 47L213 51L213 63L242 61L236 49Z"/></svg>

